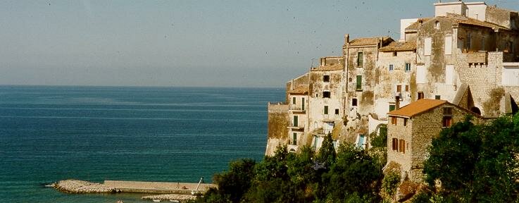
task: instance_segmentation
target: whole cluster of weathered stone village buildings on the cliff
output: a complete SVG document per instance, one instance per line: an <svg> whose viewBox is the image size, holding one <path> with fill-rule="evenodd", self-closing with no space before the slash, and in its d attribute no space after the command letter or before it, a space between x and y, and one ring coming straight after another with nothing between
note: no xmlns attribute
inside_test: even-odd
<svg viewBox="0 0 519 203"><path fill-rule="evenodd" d="M400 20L400 39L344 35L342 56L326 56L287 82L286 101L268 104L265 154L282 144L318 150L370 148L387 125L387 162L422 180L427 146L442 128L519 111L518 11L484 2L434 4L434 16Z"/></svg>

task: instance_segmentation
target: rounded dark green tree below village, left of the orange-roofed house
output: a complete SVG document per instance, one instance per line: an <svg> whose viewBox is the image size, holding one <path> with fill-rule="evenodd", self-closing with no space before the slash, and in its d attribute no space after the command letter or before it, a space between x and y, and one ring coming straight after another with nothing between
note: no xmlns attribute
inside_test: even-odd
<svg viewBox="0 0 519 203"><path fill-rule="evenodd" d="M337 161L323 177L328 181L327 195L341 201L356 196L378 200L381 178L380 165L365 150L353 144L342 144L339 147Z"/></svg>

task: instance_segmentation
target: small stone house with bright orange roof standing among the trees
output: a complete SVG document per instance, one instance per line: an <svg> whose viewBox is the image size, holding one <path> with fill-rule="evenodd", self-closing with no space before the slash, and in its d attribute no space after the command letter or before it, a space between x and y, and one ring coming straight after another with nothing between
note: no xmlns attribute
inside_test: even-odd
<svg viewBox="0 0 519 203"><path fill-rule="evenodd" d="M442 128L463 121L467 115L472 115L475 123L485 121L477 113L436 99L419 99L387 115L387 163L396 163L401 177L416 183L423 181L427 147Z"/></svg>

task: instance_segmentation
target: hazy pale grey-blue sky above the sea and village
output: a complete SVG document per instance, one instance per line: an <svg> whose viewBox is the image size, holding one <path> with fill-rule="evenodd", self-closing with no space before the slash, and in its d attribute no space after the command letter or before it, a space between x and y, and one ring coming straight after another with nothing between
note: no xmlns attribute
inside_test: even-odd
<svg viewBox="0 0 519 203"><path fill-rule="evenodd" d="M435 2L4 0L0 85L284 87L344 34L399 39Z"/></svg>

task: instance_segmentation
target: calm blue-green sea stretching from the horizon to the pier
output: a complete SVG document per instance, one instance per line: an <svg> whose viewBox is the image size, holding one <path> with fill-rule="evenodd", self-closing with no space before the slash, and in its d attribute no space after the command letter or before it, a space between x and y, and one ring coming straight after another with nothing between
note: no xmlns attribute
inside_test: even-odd
<svg viewBox="0 0 519 203"><path fill-rule="evenodd" d="M149 202L77 195L65 179L211 183L261 161L284 88L0 86L0 202Z"/></svg>

